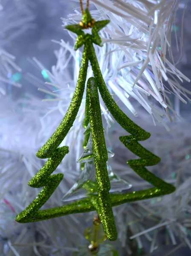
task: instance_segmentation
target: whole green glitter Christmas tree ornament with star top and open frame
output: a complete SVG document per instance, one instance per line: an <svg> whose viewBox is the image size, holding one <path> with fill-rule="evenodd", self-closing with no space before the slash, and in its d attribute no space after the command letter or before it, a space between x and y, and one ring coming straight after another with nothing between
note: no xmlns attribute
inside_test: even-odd
<svg viewBox="0 0 191 256"><path fill-rule="evenodd" d="M117 238L115 220L113 217L112 207L127 202L138 201L157 196L170 194L175 191L175 187L159 179L150 173L145 166L153 166L159 163L160 158L145 149L138 141L147 140L150 134L131 121L118 107L113 100L101 74L96 52L93 44L101 46L101 38L98 35L100 29L104 28L109 20L95 21L90 15L88 8L83 12L83 17L79 25L69 25L66 29L78 35L75 49L84 45L84 51L81 60L79 77L75 88L72 101L69 105L64 119L52 134L50 139L37 152L37 157L48 158L41 170L29 181L29 186L34 188L43 187L38 197L26 207L19 215L16 221L28 223L42 221L49 218L56 218L63 215L69 215L79 212L97 211L101 224L107 239L114 241ZM92 35L85 34L84 29L92 28ZM96 184L97 194L89 194L87 198L75 201L61 207L52 209L39 210L43 204L50 198L52 193L58 187L63 179L63 174L51 175L63 160L64 156L69 153L69 148L63 146L58 148L61 142L68 134L77 116L84 94L85 83L87 79L88 62L92 66L94 78L87 81L86 93L86 126L90 122L90 129L93 141L93 160L96 167ZM128 160L127 163L140 177L148 181L153 188L134 191L126 194L110 194L110 180L107 173L107 148L104 139L104 129L101 120L101 109L99 104L98 90L107 106L107 109L113 115L114 119L125 131L131 135L122 136L119 139L139 159ZM85 145L84 145L85 146Z"/></svg>

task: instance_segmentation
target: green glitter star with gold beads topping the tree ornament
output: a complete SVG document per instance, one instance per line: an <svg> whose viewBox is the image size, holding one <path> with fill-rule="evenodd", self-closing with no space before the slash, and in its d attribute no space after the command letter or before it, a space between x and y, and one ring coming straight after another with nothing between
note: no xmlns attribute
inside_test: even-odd
<svg viewBox="0 0 191 256"><path fill-rule="evenodd" d="M85 44L85 42L87 42L87 39L91 39L92 43L102 46L101 38L98 35L98 32L99 30L103 29L104 26L106 26L109 22L110 20L95 21L90 15L89 10L86 9L79 24L68 25L65 26L65 28L78 35L74 47L74 49L77 50L83 44ZM89 28L92 28L92 35L85 34L83 31L83 29Z"/></svg>

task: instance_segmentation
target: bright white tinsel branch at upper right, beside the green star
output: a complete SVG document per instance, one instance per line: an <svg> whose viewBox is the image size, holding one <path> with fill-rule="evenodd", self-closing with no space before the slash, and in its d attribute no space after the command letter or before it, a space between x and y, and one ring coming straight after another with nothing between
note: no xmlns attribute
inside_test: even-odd
<svg viewBox="0 0 191 256"><path fill-rule="evenodd" d="M96 20L110 19L107 28L101 32L103 43L109 43L105 51L110 55L107 85L135 116L138 113L128 100L129 96L136 99L158 122L163 122L164 114L172 119L169 111L176 112L168 94L172 92L184 103L190 101L186 95L190 92L181 85L183 80L190 80L177 70L171 52L171 27L179 1L92 2L98 9L92 11ZM69 19L79 22L81 13L75 12L75 15L69 15ZM172 63L166 57L168 52ZM102 72L107 72L107 66ZM162 111L158 111L156 102L153 105L152 98L159 102Z"/></svg>

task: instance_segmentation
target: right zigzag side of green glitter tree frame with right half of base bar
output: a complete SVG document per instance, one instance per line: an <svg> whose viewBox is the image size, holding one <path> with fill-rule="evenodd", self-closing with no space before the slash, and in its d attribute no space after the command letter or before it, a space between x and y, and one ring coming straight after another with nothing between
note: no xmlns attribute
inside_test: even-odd
<svg viewBox="0 0 191 256"><path fill-rule="evenodd" d="M155 156L138 143L138 141L147 140L150 137L150 133L146 132L144 129L142 129L132 120L130 120L113 100L101 74L101 70L99 68L98 60L96 58L96 52L93 45L91 47L90 63L92 65L93 74L96 78L101 97L107 109L110 111L110 113L119 123L119 125L121 125L125 131L132 134L129 136L122 136L119 139L130 151L141 157L140 159L129 160L127 161L127 163L140 177L148 181L148 183L150 183L151 185L156 186L156 188L153 189L147 189L121 195L114 195L114 198L118 198L119 201L126 203L130 201L136 201L136 197L137 200L143 200L160 195L167 195L174 192L174 186L159 179L145 168L145 166L153 166L160 162L159 157ZM113 206L118 205L116 202L112 202Z"/></svg>

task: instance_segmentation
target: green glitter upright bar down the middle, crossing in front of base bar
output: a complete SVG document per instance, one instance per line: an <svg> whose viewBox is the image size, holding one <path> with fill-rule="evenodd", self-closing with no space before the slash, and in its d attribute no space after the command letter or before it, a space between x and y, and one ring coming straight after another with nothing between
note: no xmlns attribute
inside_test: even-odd
<svg viewBox="0 0 191 256"><path fill-rule="evenodd" d="M117 238L115 220L110 200L110 180L107 173L107 148L104 138L104 128L101 120L101 108L98 87L95 78L87 82L88 115L92 135L93 159L96 168L96 183L98 184L98 200L91 197L92 204L98 212L106 236L113 241Z"/></svg>

